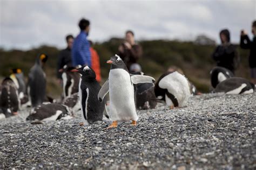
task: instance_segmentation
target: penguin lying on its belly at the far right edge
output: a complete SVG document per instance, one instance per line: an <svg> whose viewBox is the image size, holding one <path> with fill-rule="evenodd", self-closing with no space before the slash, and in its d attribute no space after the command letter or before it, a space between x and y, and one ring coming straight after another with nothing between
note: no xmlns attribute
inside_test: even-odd
<svg viewBox="0 0 256 170"><path fill-rule="evenodd" d="M231 77L220 82L214 89L215 93L224 92L226 94L250 94L253 93L255 85L241 77Z"/></svg>

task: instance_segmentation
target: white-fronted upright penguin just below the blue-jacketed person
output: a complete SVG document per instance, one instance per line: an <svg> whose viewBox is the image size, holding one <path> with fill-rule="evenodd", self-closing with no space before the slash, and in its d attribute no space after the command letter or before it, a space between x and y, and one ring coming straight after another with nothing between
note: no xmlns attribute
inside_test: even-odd
<svg viewBox="0 0 256 170"><path fill-rule="evenodd" d="M80 75L70 72L75 67L65 65L59 72L62 72L63 80L63 96L69 97L74 93L78 93L78 84L80 80Z"/></svg>

